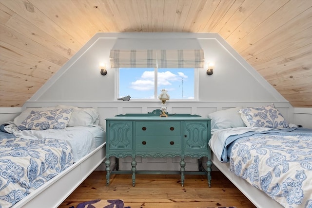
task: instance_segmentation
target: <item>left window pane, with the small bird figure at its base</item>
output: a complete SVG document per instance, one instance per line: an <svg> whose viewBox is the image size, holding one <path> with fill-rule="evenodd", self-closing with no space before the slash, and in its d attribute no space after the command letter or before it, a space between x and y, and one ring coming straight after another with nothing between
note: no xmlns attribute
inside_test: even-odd
<svg viewBox="0 0 312 208"><path fill-rule="evenodd" d="M149 68L119 68L119 98L154 99L155 72Z"/></svg>

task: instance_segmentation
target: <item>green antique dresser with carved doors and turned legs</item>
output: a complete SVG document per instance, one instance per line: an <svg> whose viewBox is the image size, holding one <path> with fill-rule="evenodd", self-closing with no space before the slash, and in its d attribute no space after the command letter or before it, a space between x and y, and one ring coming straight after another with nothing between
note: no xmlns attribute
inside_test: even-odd
<svg viewBox="0 0 312 208"><path fill-rule="evenodd" d="M106 185L109 185L111 173L132 174L133 186L136 174L181 174L184 186L185 174L205 174L211 187L211 150L210 119L190 114L125 114L106 119ZM111 170L110 156L116 158L131 156L132 169ZM136 156L176 157L180 156L180 171L137 171ZM185 156L192 158L207 157L206 170L185 171Z"/></svg>

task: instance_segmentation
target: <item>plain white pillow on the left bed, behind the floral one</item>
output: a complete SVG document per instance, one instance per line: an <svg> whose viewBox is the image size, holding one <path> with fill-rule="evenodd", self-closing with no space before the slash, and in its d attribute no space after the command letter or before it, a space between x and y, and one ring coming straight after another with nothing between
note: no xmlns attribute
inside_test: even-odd
<svg viewBox="0 0 312 208"><path fill-rule="evenodd" d="M94 108L79 108L69 105L58 105L57 108L74 109L67 126L91 126L99 123L99 114Z"/></svg>

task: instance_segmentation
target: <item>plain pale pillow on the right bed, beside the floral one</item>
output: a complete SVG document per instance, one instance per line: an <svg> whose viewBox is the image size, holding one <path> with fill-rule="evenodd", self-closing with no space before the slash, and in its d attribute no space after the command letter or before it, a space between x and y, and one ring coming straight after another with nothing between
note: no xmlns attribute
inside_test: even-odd
<svg viewBox="0 0 312 208"><path fill-rule="evenodd" d="M210 113L208 118L211 119L211 131L246 126L240 114L237 112L240 109L242 109L242 107L234 107Z"/></svg>

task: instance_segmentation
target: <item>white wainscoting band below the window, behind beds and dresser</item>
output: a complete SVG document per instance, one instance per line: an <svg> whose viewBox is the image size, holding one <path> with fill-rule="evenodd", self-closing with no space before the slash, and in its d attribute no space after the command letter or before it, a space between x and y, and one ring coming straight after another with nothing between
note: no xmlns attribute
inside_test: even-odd
<svg viewBox="0 0 312 208"><path fill-rule="evenodd" d="M189 113L207 117L209 113L217 110L224 110L232 107L256 107L274 103L275 107L282 113L289 122L293 121L293 107L288 102L166 102L168 113ZM106 128L105 119L126 113L148 113L160 109L160 101L116 101L116 102L27 102L27 107L52 107L58 104L74 105L78 107L93 107L98 110L100 124Z"/></svg>

